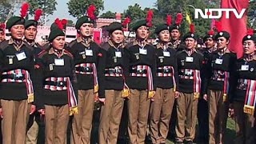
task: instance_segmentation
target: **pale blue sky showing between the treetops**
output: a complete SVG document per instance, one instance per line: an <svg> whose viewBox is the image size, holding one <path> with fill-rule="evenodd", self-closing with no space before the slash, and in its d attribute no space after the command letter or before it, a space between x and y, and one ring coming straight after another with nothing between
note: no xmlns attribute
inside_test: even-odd
<svg viewBox="0 0 256 144"><path fill-rule="evenodd" d="M50 22L54 21L55 18L67 18L72 19L75 22L75 18L70 16L68 12L68 8L66 3L69 0L57 0L58 6L56 6L57 10L54 12L54 15L50 16ZM140 6L142 6L142 9L145 7L153 7L156 0L104 0L104 8L103 12L106 12L108 10L113 12L120 12L122 13L123 10L126 10L128 6L134 5L135 3L138 3Z"/></svg>

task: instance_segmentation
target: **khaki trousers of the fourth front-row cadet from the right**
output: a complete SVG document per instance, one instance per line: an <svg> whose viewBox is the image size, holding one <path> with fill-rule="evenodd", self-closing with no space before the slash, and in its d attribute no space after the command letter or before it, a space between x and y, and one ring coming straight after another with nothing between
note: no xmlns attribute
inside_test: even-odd
<svg viewBox="0 0 256 144"><path fill-rule="evenodd" d="M166 143L174 99L174 89L157 88L154 102L151 102L150 106L150 136L152 143Z"/></svg>

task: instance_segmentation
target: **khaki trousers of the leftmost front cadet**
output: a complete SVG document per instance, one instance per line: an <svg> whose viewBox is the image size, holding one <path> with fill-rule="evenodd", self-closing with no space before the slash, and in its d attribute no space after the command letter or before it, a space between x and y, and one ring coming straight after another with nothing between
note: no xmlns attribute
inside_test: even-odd
<svg viewBox="0 0 256 144"><path fill-rule="evenodd" d="M26 125L30 115L27 100L1 100L2 106L2 143L25 144Z"/></svg>

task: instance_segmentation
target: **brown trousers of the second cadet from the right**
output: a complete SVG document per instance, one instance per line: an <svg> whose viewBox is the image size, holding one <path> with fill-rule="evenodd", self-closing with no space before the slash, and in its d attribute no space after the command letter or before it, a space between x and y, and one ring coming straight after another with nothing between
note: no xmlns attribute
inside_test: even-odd
<svg viewBox="0 0 256 144"><path fill-rule="evenodd" d="M223 102L222 90L208 90L209 143L223 143L228 115L228 102Z"/></svg>

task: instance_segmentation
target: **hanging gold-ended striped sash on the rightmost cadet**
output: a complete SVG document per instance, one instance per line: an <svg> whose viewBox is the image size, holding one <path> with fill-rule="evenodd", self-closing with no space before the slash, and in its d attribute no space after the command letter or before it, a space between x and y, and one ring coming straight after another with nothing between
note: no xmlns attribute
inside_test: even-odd
<svg viewBox="0 0 256 144"><path fill-rule="evenodd" d="M256 81L246 79L247 82L247 89L246 89L246 99L245 105L243 106L243 111L246 114L254 114L254 107L256 104Z"/></svg>

